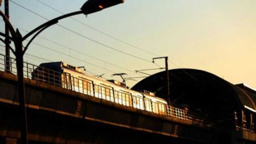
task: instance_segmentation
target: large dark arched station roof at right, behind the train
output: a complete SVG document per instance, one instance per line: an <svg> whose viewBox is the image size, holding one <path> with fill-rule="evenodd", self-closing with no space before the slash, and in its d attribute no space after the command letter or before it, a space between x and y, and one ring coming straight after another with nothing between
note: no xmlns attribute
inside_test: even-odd
<svg viewBox="0 0 256 144"><path fill-rule="evenodd" d="M234 117L245 108L256 112L256 92L245 84L234 85L216 75L197 69L169 70L171 101L199 111L214 121ZM166 72L138 82L133 90L148 90L167 99Z"/></svg>

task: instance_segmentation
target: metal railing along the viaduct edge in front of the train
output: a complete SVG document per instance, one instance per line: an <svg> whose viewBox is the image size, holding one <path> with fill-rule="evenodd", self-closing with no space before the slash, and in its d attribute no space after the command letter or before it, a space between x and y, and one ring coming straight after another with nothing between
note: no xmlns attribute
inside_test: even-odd
<svg viewBox="0 0 256 144"><path fill-rule="evenodd" d="M6 62L5 55L0 54L0 71L5 71ZM11 58L11 73L16 74L16 61ZM32 63L24 62L24 77L47 84L53 84L62 88L67 88L75 92L80 92L95 98L106 99L127 107L142 109L158 115L166 115L181 120L203 122L200 117L192 115L190 111L165 105L164 103L156 103L148 99L132 96L128 92L120 92L104 85L93 84L92 81L73 77L69 73L58 73L45 67L39 67ZM146 107L145 107L146 106Z"/></svg>

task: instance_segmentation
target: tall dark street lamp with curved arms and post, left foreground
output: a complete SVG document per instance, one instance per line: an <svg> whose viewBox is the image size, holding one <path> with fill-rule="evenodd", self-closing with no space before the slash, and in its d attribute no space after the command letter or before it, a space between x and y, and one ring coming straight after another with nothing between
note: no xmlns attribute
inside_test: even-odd
<svg viewBox="0 0 256 144"><path fill-rule="evenodd" d="M1 5L0 0L0 5ZM63 18L67 18L69 16L74 16L77 14L91 14L93 12L100 11L102 9L106 9L108 7L112 7L114 5L124 3L124 0L88 0L85 2L83 7L81 7L81 10L77 12L71 12L69 14L64 14L62 16L58 16L57 18L54 18L53 20L49 20L48 22L45 22L44 24L41 24L40 26L36 27L24 37L20 34L20 31L16 29L14 30L14 27L12 26L9 19L3 14L3 12L0 10L0 15L3 17L3 20L5 21L6 26L9 28L11 37L8 35L5 35L5 33L1 33L5 38L9 38L11 41L13 41L15 50L11 48L11 51L13 52L14 56L16 57L16 69L17 69L17 76L18 76L18 95L19 95L19 103L20 103L20 112L21 112L21 143L28 143L28 127L27 127L27 117L26 117L26 96L25 96L25 90L24 90L24 77L23 77L23 55L28 49L28 46L30 43L32 43L33 39L39 35L43 30L47 29L47 27L53 26L54 24L58 23L58 20L61 20ZM34 35L33 35L34 34ZM24 50L22 49L22 42L26 40L28 37L33 35L33 37L28 41L27 45L24 46ZM0 40L2 40L0 38Z"/></svg>

